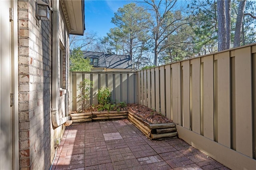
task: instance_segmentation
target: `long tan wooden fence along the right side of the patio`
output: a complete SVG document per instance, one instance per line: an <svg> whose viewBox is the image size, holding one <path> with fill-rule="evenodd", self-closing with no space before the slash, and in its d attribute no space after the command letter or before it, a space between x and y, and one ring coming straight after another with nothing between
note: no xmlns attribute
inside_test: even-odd
<svg viewBox="0 0 256 170"><path fill-rule="evenodd" d="M256 44L138 71L138 103L230 168L256 168Z"/></svg>

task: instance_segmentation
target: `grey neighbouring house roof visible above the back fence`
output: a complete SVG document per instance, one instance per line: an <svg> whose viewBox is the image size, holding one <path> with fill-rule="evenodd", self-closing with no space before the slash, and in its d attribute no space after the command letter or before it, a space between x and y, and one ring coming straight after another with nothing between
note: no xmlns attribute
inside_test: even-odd
<svg viewBox="0 0 256 170"><path fill-rule="evenodd" d="M83 51L84 58L98 58L98 67L110 69L132 69L130 55L104 54L103 52Z"/></svg>

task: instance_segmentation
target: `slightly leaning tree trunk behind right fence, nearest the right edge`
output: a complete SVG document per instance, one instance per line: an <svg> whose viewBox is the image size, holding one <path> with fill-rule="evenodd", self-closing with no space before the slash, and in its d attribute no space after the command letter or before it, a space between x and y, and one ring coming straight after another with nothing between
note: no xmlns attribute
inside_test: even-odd
<svg viewBox="0 0 256 170"><path fill-rule="evenodd" d="M241 42L241 28L242 28L242 21L244 18L244 7L245 7L246 0L241 0L238 6L238 14L236 18L236 28L235 28L235 38L234 38L234 47L239 47Z"/></svg>

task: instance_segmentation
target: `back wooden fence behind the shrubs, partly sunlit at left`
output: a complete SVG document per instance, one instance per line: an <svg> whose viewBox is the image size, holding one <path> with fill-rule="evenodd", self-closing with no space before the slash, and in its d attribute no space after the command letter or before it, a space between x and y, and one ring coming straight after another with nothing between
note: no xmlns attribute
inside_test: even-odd
<svg viewBox="0 0 256 170"><path fill-rule="evenodd" d="M112 90L112 100L116 103L137 103L137 73L136 72L71 72L71 110L80 109L80 101L76 98L78 94L78 83L82 79L93 81L93 87L88 95L86 106L98 104L98 90L100 87L108 87Z"/></svg>

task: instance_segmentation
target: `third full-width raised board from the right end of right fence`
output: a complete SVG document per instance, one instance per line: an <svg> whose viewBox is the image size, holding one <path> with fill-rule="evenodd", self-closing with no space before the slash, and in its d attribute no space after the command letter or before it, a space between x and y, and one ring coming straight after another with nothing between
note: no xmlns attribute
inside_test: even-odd
<svg viewBox="0 0 256 170"><path fill-rule="evenodd" d="M213 55L204 57L204 136L214 139Z"/></svg>

